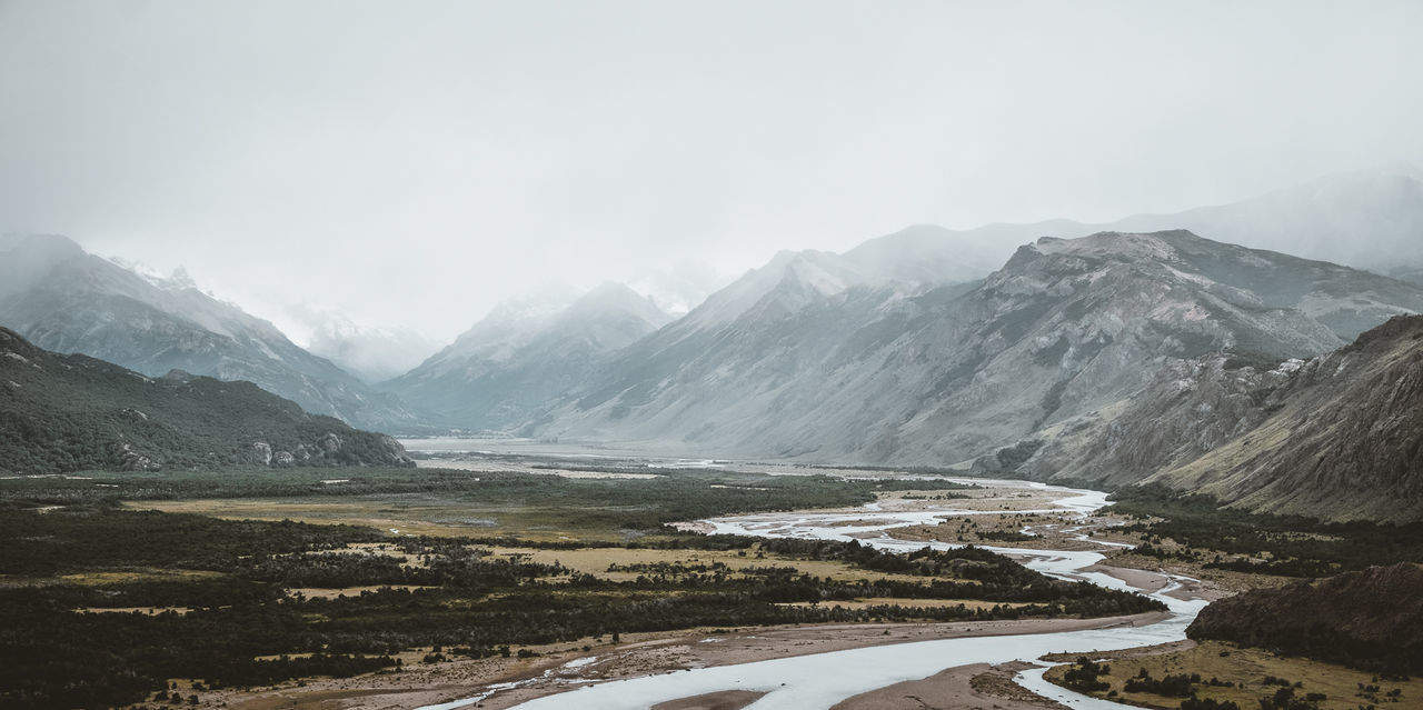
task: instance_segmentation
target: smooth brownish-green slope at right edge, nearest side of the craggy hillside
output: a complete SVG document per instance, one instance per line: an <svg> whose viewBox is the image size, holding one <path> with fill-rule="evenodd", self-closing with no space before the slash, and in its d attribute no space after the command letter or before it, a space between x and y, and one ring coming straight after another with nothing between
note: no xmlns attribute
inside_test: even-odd
<svg viewBox="0 0 1423 710"><path fill-rule="evenodd" d="M1423 316L1392 319L1274 390L1261 424L1150 479L1259 511L1423 519Z"/></svg>

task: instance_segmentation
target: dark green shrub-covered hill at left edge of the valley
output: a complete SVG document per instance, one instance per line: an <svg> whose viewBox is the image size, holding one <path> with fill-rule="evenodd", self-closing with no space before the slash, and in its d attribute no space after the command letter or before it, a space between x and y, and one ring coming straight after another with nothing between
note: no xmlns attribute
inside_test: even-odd
<svg viewBox="0 0 1423 710"><path fill-rule="evenodd" d="M312 415L245 381L149 378L0 327L0 461L21 474L414 465L383 434Z"/></svg>

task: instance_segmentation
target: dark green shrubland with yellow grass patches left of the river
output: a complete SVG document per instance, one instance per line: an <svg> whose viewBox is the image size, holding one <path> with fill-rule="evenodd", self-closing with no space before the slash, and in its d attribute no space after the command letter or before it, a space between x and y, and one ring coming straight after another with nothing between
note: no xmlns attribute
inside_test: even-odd
<svg viewBox="0 0 1423 710"><path fill-rule="evenodd" d="M730 512L864 502L896 485L885 481L723 472L642 481L403 470L339 475L334 488L323 482L329 471L0 481L0 534L10 541L0 548L0 706L107 707L154 701L159 693L166 704L174 679L192 679L201 694L398 670L401 655L420 647L438 646L427 660L440 662L690 627L1160 609L1143 596L1044 578L982 549L899 556L854 542L663 528ZM908 485L935 489L932 481ZM589 535L529 541L465 528L474 535L413 536L118 505L199 491L371 505L438 494L549 516L562 511ZM610 541L609 531L626 535ZM606 551L626 562L603 572L558 561L573 551ZM703 555L720 563L697 562Z"/></svg>

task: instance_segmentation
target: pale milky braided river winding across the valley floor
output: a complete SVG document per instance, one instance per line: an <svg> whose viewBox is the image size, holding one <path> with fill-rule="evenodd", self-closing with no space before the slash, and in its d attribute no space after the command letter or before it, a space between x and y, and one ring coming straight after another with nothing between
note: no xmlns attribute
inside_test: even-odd
<svg viewBox="0 0 1423 710"><path fill-rule="evenodd" d="M1025 481L998 481L996 484L1062 494L1062 498L1054 501L1054 508L1052 508L1050 512L1063 512L1066 509L1067 512L1087 515L1106 505L1106 494L1099 491L1059 488ZM952 549L959 545L899 541L889 538L884 534L884 531L902 525L933 524L943 515L986 515L1005 512L959 511L953 509L951 504L952 501L932 511L902 512L887 512L871 504L851 512L757 514L717 518L706 522L712 524L716 532L841 541L852 539L854 536L858 538L862 545L874 545L881 549L912 551L921 549L926 545L936 549ZM1043 512L1049 511L1044 509ZM842 525L847 521L864 519L867 516L872 516L877 522L862 526L835 526L835 524ZM879 536L865 536L877 532ZM1103 555L1097 552L1025 551L1010 548L988 549L1010 553L1023 561L1023 563L1029 568L1056 578L1073 581L1086 579L1091 583L1111 589L1131 589L1126 582L1117 578L1099 572L1081 571L1083 568L1091 566L1103 559ZM517 707L521 710L566 707L589 710L628 710L643 709L666 700L676 700L703 693L716 693L721 690L757 690L766 692L767 694L748 706L754 710L825 709L859 693L906 680L925 679L943 669L955 666L966 666L972 663L1006 663L1012 660L1033 662L1044 653L1091 653L1096 650L1126 649L1181 640L1185 637L1185 627L1190 626L1191 620L1207 602L1183 602L1180 599L1165 596L1167 592L1171 592L1178 586L1180 581L1175 581L1160 592L1150 595L1160 599L1170 608L1171 618L1148 626L942 639L773 659L736 666L667 672L656 676L642 676L591 684L569 693L559 693L529 700L528 703ZM1070 707L1080 707L1084 710L1130 709L1130 706L1097 700L1053 686L1052 683L1043 680L1043 670L1044 669L1023 672L1017 676L1017 680L1025 687ZM488 697L488 692L478 696L481 700L484 697ZM428 706L421 710L450 710L461 707L461 703L468 704L474 700L475 699L465 699L464 701Z"/></svg>

